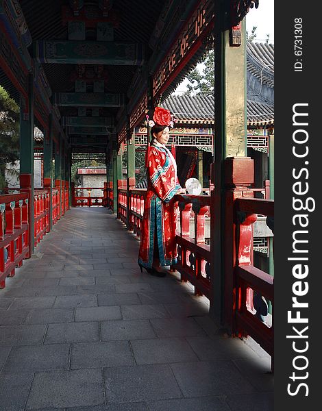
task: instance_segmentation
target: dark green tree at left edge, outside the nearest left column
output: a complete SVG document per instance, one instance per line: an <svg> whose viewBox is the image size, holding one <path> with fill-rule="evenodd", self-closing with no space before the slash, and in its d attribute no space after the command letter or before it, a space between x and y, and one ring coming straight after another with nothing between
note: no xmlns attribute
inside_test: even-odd
<svg viewBox="0 0 322 411"><path fill-rule="evenodd" d="M19 107L0 86L0 190L5 187L6 164L19 158Z"/></svg>

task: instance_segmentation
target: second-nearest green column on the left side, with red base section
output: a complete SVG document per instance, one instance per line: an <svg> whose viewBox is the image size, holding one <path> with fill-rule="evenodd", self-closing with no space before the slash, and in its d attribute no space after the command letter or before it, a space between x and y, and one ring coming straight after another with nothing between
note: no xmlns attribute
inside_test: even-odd
<svg viewBox="0 0 322 411"><path fill-rule="evenodd" d="M49 229L53 228L53 116L49 114L49 127L44 135L44 188L49 190Z"/></svg>

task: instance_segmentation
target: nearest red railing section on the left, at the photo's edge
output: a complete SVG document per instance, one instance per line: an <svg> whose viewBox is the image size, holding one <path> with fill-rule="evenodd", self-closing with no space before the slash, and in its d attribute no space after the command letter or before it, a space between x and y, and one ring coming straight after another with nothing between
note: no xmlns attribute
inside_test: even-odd
<svg viewBox="0 0 322 411"><path fill-rule="evenodd" d="M0 288L29 254L28 195L0 195Z"/></svg>

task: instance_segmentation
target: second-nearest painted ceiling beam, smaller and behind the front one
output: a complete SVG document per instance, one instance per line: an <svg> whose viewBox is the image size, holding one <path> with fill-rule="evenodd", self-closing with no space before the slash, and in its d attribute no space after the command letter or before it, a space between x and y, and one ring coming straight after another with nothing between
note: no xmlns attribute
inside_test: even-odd
<svg viewBox="0 0 322 411"><path fill-rule="evenodd" d="M53 103L61 107L121 107L124 95L104 92L54 93Z"/></svg>

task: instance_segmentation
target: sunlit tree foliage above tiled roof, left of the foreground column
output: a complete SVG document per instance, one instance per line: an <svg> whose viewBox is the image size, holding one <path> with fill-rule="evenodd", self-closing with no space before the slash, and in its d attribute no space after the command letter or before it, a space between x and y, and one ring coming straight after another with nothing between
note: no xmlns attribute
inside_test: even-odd
<svg viewBox="0 0 322 411"><path fill-rule="evenodd" d="M203 63L201 72L193 69L186 77L189 84L187 84L188 91L184 93L185 95L214 92L214 50L207 51L199 63Z"/></svg>

